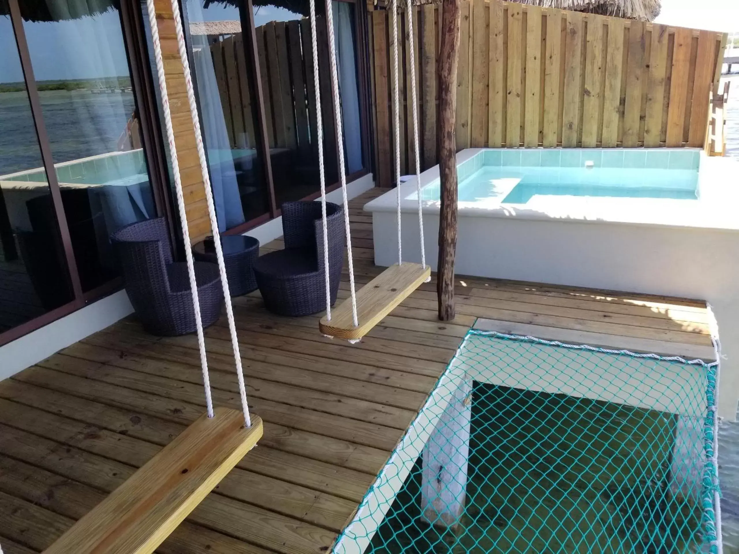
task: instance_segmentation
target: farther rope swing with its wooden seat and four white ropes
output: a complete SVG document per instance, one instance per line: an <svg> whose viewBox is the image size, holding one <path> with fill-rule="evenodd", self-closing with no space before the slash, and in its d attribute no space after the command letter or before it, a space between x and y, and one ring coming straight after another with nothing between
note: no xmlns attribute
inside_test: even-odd
<svg viewBox="0 0 739 554"><path fill-rule="evenodd" d="M336 75L336 49L333 33L333 7L331 0L326 0L328 41L331 66L331 90L336 121L339 122L337 140L339 145L344 144L343 125L341 124L341 96L338 91ZM392 18L392 33L395 40L392 44L393 75L392 103L393 127L395 130L395 189L396 189L396 225L398 227L398 264L393 264L379 276L364 285L358 293L355 291L354 263L352 258L352 236L349 225L349 200L347 199L347 178L344 173L344 149L338 148L339 175L341 179L341 194L344 199L344 228L347 236L347 259L349 261L350 298L344 301L335 312L331 313L330 278L328 267L328 239L326 219L326 187L324 177L323 134L321 131L321 95L319 89L318 54L316 52L316 2L310 0L310 30L313 38L313 81L316 85L316 112L318 114L319 140L319 170L321 174L321 217L324 229L324 278L326 284L326 315L319 322L321 332L330 338L346 338L350 343L356 343L378 324L389 312L403 301L410 293L416 290L421 283L431 281L431 270L426 267L426 251L423 246L423 202L420 195L420 155L418 140L418 100L416 92L416 52L413 41L413 9L406 7L409 29L409 46L412 54L412 103L413 103L413 140L415 144L416 191L418 196L418 229L420 232L420 264L403 263L402 233L401 233L401 146L400 146L400 100L398 98L398 0L391 0L390 17ZM361 320L361 324L360 324Z"/></svg>

